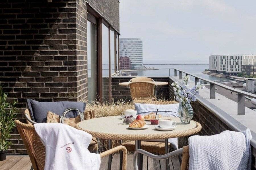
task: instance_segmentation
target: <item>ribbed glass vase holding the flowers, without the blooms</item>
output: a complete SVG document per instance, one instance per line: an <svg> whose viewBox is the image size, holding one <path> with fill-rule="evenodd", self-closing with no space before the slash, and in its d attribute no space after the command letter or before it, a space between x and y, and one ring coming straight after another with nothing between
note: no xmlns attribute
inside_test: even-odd
<svg viewBox="0 0 256 170"><path fill-rule="evenodd" d="M189 124L190 120L194 116L194 111L193 111L193 108L190 104L188 106L186 106L184 104L179 104L178 114L179 114L179 118L180 118L181 123Z"/></svg>

